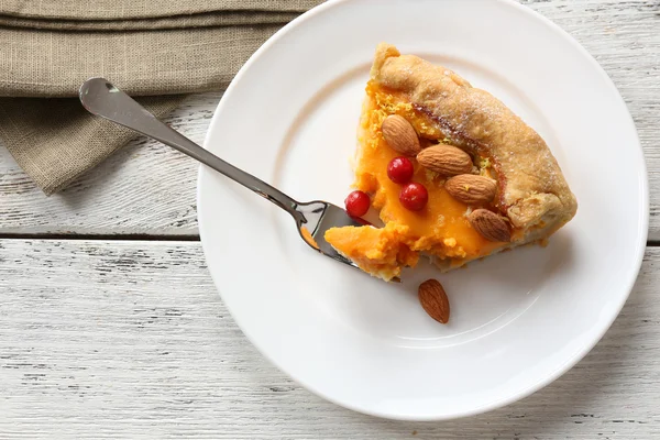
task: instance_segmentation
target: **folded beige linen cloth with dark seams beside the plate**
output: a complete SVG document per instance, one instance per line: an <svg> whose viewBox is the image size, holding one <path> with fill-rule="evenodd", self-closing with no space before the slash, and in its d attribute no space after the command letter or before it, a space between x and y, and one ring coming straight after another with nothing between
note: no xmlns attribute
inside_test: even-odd
<svg viewBox="0 0 660 440"><path fill-rule="evenodd" d="M134 133L88 114L102 76L157 117L221 90L282 25L320 0L0 0L0 140L47 195Z"/></svg>

